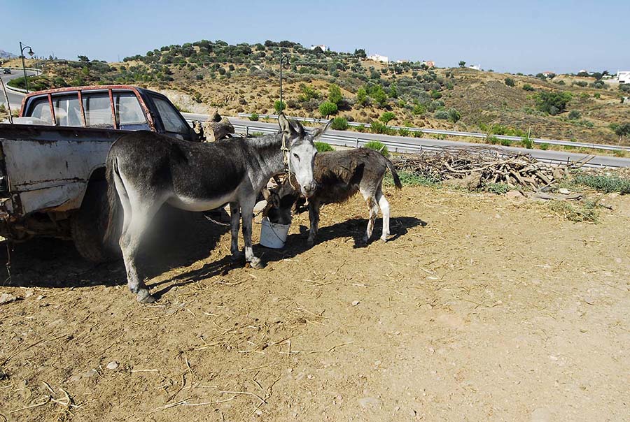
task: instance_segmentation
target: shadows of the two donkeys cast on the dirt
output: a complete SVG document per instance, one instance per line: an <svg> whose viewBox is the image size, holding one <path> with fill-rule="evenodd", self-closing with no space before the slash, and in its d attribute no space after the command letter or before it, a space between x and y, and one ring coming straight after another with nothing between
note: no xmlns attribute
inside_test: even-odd
<svg viewBox="0 0 630 422"><path fill-rule="evenodd" d="M409 228L416 226L426 226L426 221L417 219L416 217L392 217L390 219L390 229L393 232L393 236L388 239L389 242L395 242L401 236L407 234ZM367 247L372 242L381 242L378 235L382 228L382 219L378 219L374 224L374 235L372 240L367 244L363 243L363 235L365 234L365 227L367 226L367 219L349 219L340 223L332 224L332 226L323 226L319 228L317 232L316 245L318 243L328 242L336 238L351 237L354 240L354 247ZM269 249L262 247L261 245L254 245L254 252L256 256L259 256L262 261L266 263L281 261L283 259L293 258L297 255L306 252L311 247L307 244L308 228L300 226L299 234L288 235L286 240L285 249ZM207 263L198 270L183 273L170 280L151 284L151 288L155 288L161 284L169 284L159 291L152 292L153 296L160 298L167 291L176 286L183 286L185 284L214 277L216 275L227 275L233 268L242 268L243 262L232 262L230 256L225 256L223 259ZM263 270L264 271L264 270Z"/></svg>

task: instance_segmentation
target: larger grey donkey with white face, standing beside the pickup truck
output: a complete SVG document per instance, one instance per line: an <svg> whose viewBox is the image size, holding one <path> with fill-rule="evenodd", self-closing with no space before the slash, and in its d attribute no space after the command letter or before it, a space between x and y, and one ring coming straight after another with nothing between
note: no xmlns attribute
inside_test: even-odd
<svg viewBox="0 0 630 422"><path fill-rule="evenodd" d="M164 203L189 211L207 211L230 204L232 259L241 256L239 218L243 217L245 259L262 268L251 245L251 221L256 197L273 175L286 170L300 183L300 193L315 190L314 139L328 124L307 133L298 122L279 116L280 131L261 138L190 143L151 132L121 136L106 161L109 182L109 223L113 235L119 204L123 208L120 249L127 270L127 285L141 303L153 303L136 266L138 248L151 219ZM287 168L288 167L288 168Z"/></svg>

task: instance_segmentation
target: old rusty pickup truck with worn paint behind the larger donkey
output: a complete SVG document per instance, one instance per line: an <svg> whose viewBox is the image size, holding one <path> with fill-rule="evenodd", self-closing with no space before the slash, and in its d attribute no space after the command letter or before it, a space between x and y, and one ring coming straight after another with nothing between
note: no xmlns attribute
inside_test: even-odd
<svg viewBox="0 0 630 422"><path fill-rule="evenodd" d="M0 124L0 236L73 240L91 261L116 255L103 241L105 159L130 131L198 140L167 97L127 85L34 92Z"/></svg>

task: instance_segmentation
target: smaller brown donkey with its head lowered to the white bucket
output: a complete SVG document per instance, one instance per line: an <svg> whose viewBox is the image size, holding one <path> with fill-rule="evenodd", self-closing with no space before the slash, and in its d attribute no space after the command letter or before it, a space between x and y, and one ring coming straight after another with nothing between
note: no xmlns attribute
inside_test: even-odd
<svg viewBox="0 0 630 422"><path fill-rule="evenodd" d="M374 220L380 210L383 213L383 233L381 240L387 241L389 235L389 203L381 189L386 170L391 171L395 187L402 188L398 173L388 159L374 150L356 148L355 150L321 152L315 157L314 177L317 182L315 192L309 198L309 220L311 228L308 243L313 245L319 224L319 208L322 204L341 203L354 196L357 191L367 203L370 219L363 242L372 237ZM294 186L300 186L299 180L288 177L273 191L262 191L267 199L265 213L269 221L290 224L291 208L300 200L300 192Z"/></svg>

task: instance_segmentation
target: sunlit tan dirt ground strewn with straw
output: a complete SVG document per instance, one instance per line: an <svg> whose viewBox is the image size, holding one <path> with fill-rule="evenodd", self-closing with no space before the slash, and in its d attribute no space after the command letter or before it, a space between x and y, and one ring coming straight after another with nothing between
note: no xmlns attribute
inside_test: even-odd
<svg viewBox="0 0 630 422"><path fill-rule="evenodd" d="M504 196L387 194L390 242L355 246L354 198L323 208L312 249L305 214L287 249L256 249L262 270L181 218L144 259L154 305L122 263L16 246L0 422L629 420L630 198L586 224Z"/></svg>

